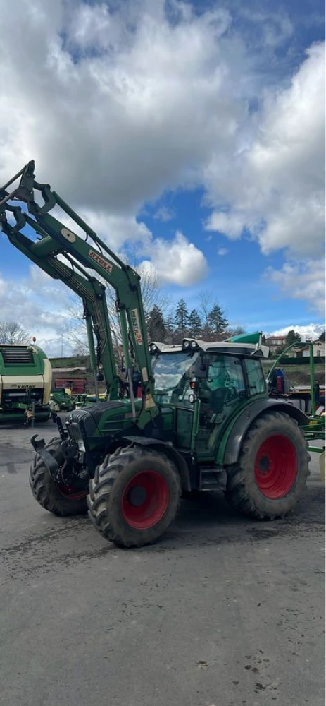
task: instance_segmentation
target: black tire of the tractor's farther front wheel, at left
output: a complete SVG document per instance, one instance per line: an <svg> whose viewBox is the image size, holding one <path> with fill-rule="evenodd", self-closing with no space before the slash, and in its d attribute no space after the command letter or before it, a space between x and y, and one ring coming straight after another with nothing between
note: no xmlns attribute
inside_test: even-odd
<svg viewBox="0 0 326 706"><path fill-rule="evenodd" d="M60 443L61 438L54 437L46 444L45 448L54 456L58 464L62 465L64 457ZM83 493L80 490L63 486L63 484L59 485L51 478L42 456L39 456L38 453L35 454L30 466L30 487L39 505L53 515L71 517L87 514L87 492Z"/></svg>

